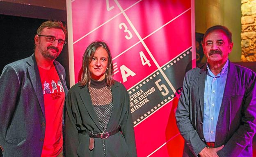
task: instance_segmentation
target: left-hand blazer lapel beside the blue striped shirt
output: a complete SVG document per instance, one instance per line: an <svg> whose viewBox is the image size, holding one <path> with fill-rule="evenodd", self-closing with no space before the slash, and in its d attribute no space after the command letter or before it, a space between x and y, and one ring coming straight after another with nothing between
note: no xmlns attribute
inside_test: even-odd
<svg viewBox="0 0 256 157"><path fill-rule="evenodd" d="M200 109L201 109L201 116L203 117L203 109L204 109L204 87L205 87L205 80L206 80L206 65L203 65L199 76L198 76L198 93L199 93L199 102L200 102ZM202 119L203 121L203 119Z"/></svg>

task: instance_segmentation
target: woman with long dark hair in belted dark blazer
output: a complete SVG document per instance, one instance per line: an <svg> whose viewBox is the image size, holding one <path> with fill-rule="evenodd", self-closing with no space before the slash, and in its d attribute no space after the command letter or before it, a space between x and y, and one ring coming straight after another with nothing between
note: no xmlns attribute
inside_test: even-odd
<svg viewBox="0 0 256 157"><path fill-rule="evenodd" d="M130 100L112 79L106 43L91 43L83 55L81 81L66 97L66 157L136 157Z"/></svg>

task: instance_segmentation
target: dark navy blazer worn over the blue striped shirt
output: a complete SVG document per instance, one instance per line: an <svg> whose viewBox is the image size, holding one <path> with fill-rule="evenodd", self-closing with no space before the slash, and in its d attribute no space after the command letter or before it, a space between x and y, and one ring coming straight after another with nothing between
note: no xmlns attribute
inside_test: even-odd
<svg viewBox="0 0 256 157"><path fill-rule="evenodd" d="M186 73L176 120L185 139L184 157L197 156L206 147L203 137L203 103L206 65ZM252 157L256 132L256 74L229 62L229 72L216 126L219 157Z"/></svg>

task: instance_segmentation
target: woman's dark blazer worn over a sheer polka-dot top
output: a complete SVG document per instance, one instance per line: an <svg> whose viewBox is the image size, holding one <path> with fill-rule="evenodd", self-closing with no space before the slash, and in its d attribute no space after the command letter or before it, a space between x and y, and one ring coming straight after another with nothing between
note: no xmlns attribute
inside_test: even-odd
<svg viewBox="0 0 256 157"><path fill-rule="evenodd" d="M136 157L135 137L130 111L129 95L119 82L111 87L113 109L107 132L121 131L105 139L107 157ZM95 139L95 146L89 150L89 136L80 132L89 130L102 132L94 111L87 85L77 83L69 90L66 97L66 156L67 157L104 157L103 141Z"/></svg>

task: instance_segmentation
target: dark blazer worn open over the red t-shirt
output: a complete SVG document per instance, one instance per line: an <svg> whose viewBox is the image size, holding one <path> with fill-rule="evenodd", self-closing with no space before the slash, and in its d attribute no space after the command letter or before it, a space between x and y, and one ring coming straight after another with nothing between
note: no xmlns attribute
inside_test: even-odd
<svg viewBox="0 0 256 157"><path fill-rule="evenodd" d="M54 62L67 93L65 70ZM0 145L4 157L40 157L45 135L43 90L34 54L10 63L0 76Z"/></svg>

